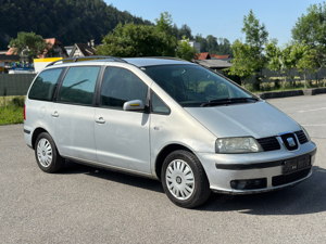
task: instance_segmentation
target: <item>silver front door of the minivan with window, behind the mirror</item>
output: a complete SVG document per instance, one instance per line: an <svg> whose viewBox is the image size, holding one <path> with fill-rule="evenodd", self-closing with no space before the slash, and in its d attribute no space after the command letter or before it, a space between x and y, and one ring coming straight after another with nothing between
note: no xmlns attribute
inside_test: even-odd
<svg viewBox="0 0 326 244"><path fill-rule="evenodd" d="M146 104L148 87L134 73L106 67L96 108L97 156L101 164L150 174L150 115L123 111L123 104L141 100Z"/></svg>

